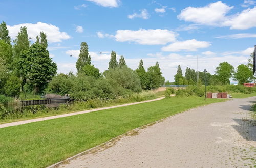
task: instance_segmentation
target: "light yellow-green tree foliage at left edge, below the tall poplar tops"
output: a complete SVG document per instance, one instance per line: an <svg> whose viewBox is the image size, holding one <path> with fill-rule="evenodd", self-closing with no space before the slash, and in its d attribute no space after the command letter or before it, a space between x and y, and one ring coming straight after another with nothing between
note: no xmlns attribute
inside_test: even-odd
<svg viewBox="0 0 256 168"><path fill-rule="evenodd" d="M11 63L13 61L12 57L12 46L6 43L4 40L0 40L0 58L5 61L8 69L12 69Z"/></svg>

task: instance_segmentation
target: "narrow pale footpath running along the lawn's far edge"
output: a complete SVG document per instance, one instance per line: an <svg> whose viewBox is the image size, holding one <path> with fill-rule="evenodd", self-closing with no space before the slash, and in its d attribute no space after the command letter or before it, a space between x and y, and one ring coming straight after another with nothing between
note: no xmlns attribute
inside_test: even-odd
<svg viewBox="0 0 256 168"><path fill-rule="evenodd" d="M33 123L33 122L44 121L44 120L57 119L57 118L62 118L62 117L74 116L74 115L81 115L81 114L84 114L84 113L90 113L90 112L93 112L93 111L99 111L99 110L104 110L104 109L111 109L111 108L123 107L123 106L128 106L128 105L152 102L152 101L161 100L163 98L164 97L160 97L160 98L153 99L153 100L146 100L146 101L140 101L140 102L134 102L134 103L128 103L128 104L115 105L115 106L110 106L110 107L89 109L89 110L85 110L85 111L78 111L78 112L75 112L75 113L68 113L68 114L63 114L63 115L56 115L56 116L30 119L30 120L17 121L17 122L12 122L12 123L5 123L5 124L0 124L0 128L5 128L5 127L10 127L10 126L15 126L15 125L22 125L22 124Z"/></svg>

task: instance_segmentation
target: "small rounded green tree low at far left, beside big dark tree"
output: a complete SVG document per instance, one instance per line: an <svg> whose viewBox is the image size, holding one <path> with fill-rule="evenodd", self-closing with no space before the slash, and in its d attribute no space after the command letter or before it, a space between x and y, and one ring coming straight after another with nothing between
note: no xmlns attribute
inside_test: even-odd
<svg viewBox="0 0 256 168"><path fill-rule="evenodd" d="M17 76L11 75L4 86L5 95L18 96L20 94L20 80Z"/></svg>

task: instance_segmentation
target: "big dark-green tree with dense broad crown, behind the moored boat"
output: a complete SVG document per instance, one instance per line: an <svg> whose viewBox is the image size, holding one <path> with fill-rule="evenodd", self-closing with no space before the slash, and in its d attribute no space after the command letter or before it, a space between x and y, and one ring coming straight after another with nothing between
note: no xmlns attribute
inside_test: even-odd
<svg viewBox="0 0 256 168"><path fill-rule="evenodd" d="M34 92L47 87L47 81L57 73L57 65L49 57L48 50L38 43L32 44L28 51L20 54L19 64L23 74L34 86Z"/></svg>

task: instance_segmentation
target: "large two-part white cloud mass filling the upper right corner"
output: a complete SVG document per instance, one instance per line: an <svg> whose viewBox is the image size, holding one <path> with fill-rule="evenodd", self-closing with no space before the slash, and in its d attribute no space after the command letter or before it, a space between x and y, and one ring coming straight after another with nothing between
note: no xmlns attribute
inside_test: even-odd
<svg viewBox="0 0 256 168"><path fill-rule="evenodd" d="M256 7L245 9L240 13L227 16L233 6L221 1L204 7L187 7L177 16L178 19L201 25L228 26L230 29L249 29L256 27Z"/></svg>

